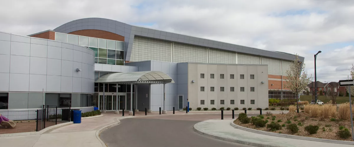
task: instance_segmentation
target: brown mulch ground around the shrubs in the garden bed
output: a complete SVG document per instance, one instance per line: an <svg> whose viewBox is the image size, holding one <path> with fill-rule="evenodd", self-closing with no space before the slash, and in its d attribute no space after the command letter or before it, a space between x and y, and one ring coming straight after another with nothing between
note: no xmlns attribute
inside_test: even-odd
<svg viewBox="0 0 354 147"><path fill-rule="evenodd" d="M272 120L272 117L275 116L275 120ZM269 118L268 118L269 117ZM296 118L297 117L297 118ZM291 121L291 123L298 124L301 122L303 125L297 127L299 128L298 133L292 134L290 130L286 129L286 127L282 127L281 130L276 130L276 131L271 131L270 128L267 127L256 127L252 123L248 124L243 124L239 120L235 120L234 123L237 125L240 125L242 127L246 128L251 128L251 129L256 129L256 130L262 130L262 131L269 131L273 133L281 133L281 134L289 134L289 135L297 135L297 136L304 136L304 137L315 137L315 138L321 138L321 139L331 139L331 140L344 140L344 141L352 141L352 137L349 137L348 139L342 139L339 136L337 136L337 131L339 130L339 126L344 126L348 128L350 131L352 128L350 128L350 120L346 121L330 121L330 118L311 118L309 114L300 112L297 114L296 112L289 112L287 114L272 114L272 115L264 115L263 120L268 120L269 123L272 121L278 122L278 120L281 120L279 122L280 125L286 124L288 120ZM325 126L327 124L327 127ZM309 134L307 131L305 131L305 127L308 125L318 125L319 130L317 131L317 134ZM330 127L329 127L330 125Z"/></svg>

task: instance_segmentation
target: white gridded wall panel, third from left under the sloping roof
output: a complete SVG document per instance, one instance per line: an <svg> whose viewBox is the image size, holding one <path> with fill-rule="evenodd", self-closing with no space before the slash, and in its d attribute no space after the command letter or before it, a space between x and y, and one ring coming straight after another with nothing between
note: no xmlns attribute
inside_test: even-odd
<svg viewBox="0 0 354 147"><path fill-rule="evenodd" d="M236 53L217 49L209 49L209 63L236 64Z"/></svg>

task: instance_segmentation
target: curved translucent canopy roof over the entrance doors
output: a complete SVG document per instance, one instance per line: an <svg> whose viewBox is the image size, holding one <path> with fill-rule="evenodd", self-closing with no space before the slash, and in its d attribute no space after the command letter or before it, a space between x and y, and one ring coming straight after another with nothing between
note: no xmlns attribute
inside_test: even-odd
<svg viewBox="0 0 354 147"><path fill-rule="evenodd" d="M167 84L174 83L172 78L158 71L110 73L96 80L96 83L112 84Z"/></svg>

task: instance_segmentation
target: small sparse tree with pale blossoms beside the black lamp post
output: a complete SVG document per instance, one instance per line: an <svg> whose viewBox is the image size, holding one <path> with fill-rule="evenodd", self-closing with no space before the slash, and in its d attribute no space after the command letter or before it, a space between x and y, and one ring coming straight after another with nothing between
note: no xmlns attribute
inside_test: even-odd
<svg viewBox="0 0 354 147"><path fill-rule="evenodd" d="M310 83L310 78L307 78L307 71L305 71L305 63L300 62L298 55L295 55L295 59L290 64L289 70L286 71L284 87L291 90L297 96L304 88ZM289 99L290 100L290 99ZM298 101L298 98L297 98ZM298 107L298 103L296 102Z"/></svg>

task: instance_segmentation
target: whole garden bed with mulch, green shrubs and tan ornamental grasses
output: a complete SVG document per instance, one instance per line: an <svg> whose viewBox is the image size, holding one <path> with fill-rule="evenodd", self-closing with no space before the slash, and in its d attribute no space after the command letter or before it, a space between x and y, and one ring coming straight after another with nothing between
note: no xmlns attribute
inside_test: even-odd
<svg viewBox="0 0 354 147"><path fill-rule="evenodd" d="M287 114L267 112L251 118L240 114L234 123L273 133L352 141L349 103L341 104L338 110L332 104L306 105L300 113L296 113L295 106L289 109Z"/></svg>

